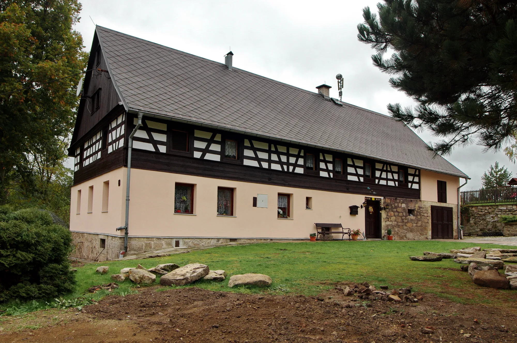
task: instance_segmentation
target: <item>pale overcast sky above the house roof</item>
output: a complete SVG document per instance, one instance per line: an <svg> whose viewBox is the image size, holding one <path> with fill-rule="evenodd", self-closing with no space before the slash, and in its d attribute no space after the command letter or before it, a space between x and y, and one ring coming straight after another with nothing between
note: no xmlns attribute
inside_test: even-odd
<svg viewBox="0 0 517 343"><path fill-rule="evenodd" d="M413 102L392 89L389 76L372 65L370 46L357 40L362 8L378 1L83 1L76 26L89 51L95 24L174 49L223 62L230 49L233 65L315 92L322 83L338 97L336 74L344 77L343 101L388 114L386 105ZM92 19L90 19L90 17ZM93 22L92 22L93 20ZM428 132L424 141L436 140ZM394 137L396 138L396 137ZM480 177L495 161L515 174L517 166L499 152L471 145L445 156L481 187Z"/></svg>

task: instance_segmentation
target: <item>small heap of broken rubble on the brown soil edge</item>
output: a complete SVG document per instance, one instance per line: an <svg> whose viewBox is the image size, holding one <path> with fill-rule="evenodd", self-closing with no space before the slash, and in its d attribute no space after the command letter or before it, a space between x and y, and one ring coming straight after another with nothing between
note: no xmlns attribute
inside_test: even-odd
<svg viewBox="0 0 517 343"><path fill-rule="evenodd" d="M345 288L340 286L334 287L334 290L343 292L343 295L345 296L353 296L351 301L359 301L360 299L371 301L392 301L396 303L418 303L419 301L422 301L423 295L413 293L411 289L411 287L407 287L388 291L388 286L381 286L381 290L377 290L374 285L371 285L368 282L360 284L354 283L352 285L345 286ZM352 306L352 303L345 305L345 307L350 308Z"/></svg>

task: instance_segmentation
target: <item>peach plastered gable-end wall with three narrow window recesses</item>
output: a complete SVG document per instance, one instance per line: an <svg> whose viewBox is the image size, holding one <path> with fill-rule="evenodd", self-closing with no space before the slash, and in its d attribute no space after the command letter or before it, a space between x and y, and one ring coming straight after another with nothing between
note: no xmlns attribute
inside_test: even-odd
<svg viewBox="0 0 517 343"><path fill-rule="evenodd" d="M124 226L126 168L117 168L101 176L74 185L70 198L70 230L120 235L115 229ZM120 180L120 186L118 185ZM110 181L108 212L102 212L103 182ZM88 211L88 188L94 187L92 213ZM81 213L77 211L77 191L81 190ZM123 233L124 231L122 231Z"/></svg>

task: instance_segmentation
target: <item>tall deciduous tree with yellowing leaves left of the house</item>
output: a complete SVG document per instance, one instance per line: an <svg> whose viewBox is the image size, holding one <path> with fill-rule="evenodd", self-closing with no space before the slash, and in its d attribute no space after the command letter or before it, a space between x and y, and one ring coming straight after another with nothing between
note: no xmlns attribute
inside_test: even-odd
<svg viewBox="0 0 517 343"><path fill-rule="evenodd" d="M82 72L73 30L80 9L77 0L0 2L0 94ZM39 187L56 179L78 104L69 91L80 78L0 95L0 204L12 189L45 195Z"/></svg>

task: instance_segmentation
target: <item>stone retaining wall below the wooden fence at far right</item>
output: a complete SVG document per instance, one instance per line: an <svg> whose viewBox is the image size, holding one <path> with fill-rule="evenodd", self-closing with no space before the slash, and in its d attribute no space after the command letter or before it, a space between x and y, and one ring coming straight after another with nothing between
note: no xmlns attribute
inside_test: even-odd
<svg viewBox="0 0 517 343"><path fill-rule="evenodd" d="M468 206L470 219L462 218L464 236L482 236L483 232L502 232L517 236L517 223L500 223L501 216L517 215L517 205Z"/></svg>

